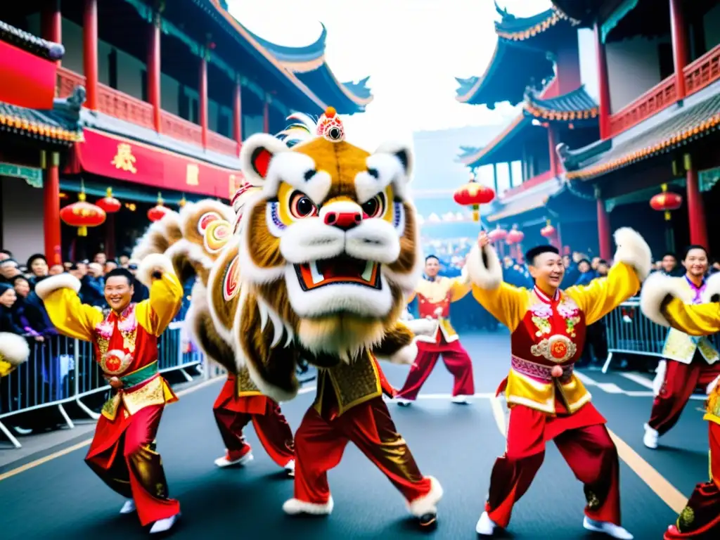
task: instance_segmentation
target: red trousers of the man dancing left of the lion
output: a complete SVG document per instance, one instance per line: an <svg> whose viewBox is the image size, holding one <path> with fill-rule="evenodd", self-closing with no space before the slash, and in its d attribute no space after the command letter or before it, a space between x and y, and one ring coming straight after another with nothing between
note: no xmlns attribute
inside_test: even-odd
<svg viewBox="0 0 720 540"><path fill-rule="evenodd" d="M85 458L103 482L123 497L135 500L143 526L180 512L180 503L168 498L162 460L155 451L163 408L150 405L128 418L120 408L113 422L101 416ZM113 437L118 433L116 423L124 427L119 438Z"/></svg>

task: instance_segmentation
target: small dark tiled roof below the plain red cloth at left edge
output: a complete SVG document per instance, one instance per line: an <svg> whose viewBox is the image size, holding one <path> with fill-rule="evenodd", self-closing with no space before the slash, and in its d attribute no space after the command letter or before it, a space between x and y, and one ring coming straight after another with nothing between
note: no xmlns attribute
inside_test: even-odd
<svg viewBox="0 0 720 540"><path fill-rule="evenodd" d="M69 146L83 140L80 110L85 91L55 99L53 109L27 109L0 102L0 132L16 134L45 143Z"/></svg>

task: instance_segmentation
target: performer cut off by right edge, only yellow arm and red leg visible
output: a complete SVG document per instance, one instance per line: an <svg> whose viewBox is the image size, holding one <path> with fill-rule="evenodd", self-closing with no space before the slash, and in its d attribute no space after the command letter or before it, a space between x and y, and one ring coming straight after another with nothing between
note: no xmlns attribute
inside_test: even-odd
<svg viewBox="0 0 720 540"><path fill-rule="evenodd" d="M654 323L690 336L720 332L720 274L710 276L703 298L709 303L686 303L687 289L678 279L654 274L642 287L640 307ZM695 300L695 299L693 299ZM710 478L695 487L678 521L665 531L665 540L720 538L720 384L708 385L705 420L708 420Z"/></svg>

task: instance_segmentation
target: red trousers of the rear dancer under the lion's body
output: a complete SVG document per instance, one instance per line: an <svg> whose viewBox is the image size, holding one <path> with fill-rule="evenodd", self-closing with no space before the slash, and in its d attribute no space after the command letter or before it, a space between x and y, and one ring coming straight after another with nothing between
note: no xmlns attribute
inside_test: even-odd
<svg viewBox="0 0 720 540"><path fill-rule="evenodd" d="M292 430L280 406L265 396L241 396L230 400L218 397L212 413L230 459L249 451L243 428L252 421L263 448L280 467L294 459Z"/></svg>

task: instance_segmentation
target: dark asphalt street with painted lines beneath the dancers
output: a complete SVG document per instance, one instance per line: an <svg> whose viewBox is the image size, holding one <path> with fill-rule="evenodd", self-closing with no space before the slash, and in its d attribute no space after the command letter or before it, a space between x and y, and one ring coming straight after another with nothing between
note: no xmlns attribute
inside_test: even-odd
<svg viewBox="0 0 720 540"><path fill-rule="evenodd" d="M474 525L487 494L490 468L505 447L505 405L491 396L508 369L509 344L506 333L464 336L463 342L474 359L477 397L472 404L451 404L451 377L438 365L418 402L410 408L390 405L420 468L444 486L436 531L423 534L416 530L400 495L352 446L348 446L343 462L330 472L333 515L284 516L281 506L292 496L292 480L286 480L264 454L252 428L247 435L253 444L254 462L231 470L216 469L212 464L223 450L211 410L220 384L212 383L191 390L168 407L158 435L171 495L179 498L183 510L181 526L173 537L476 538ZM383 368L390 381L400 387L408 368L387 363ZM624 526L636 539L657 540L675 520L683 496L687 497L696 482L708 474L707 428L698 410L702 401L691 401L679 425L661 439L663 446L650 451L642 446L642 426L652 400L647 387L651 375L627 377L618 372L603 375L587 371L583 377L595 405L608 418L608 428L615 434L621 454ZM304 392L283 406L293 428L299 425L314 395L312 387ZM78 446L78 441L70 444ZM0 481L1 539L127 540L145 536L135 516L117 514L122 499L86 467L85 451L86 446L82 446ZM24 463L10 464L3 471ZM516 506L508 537L601 538L582 529L584 505L582 485L551 445L544 467Z"/></svg>

